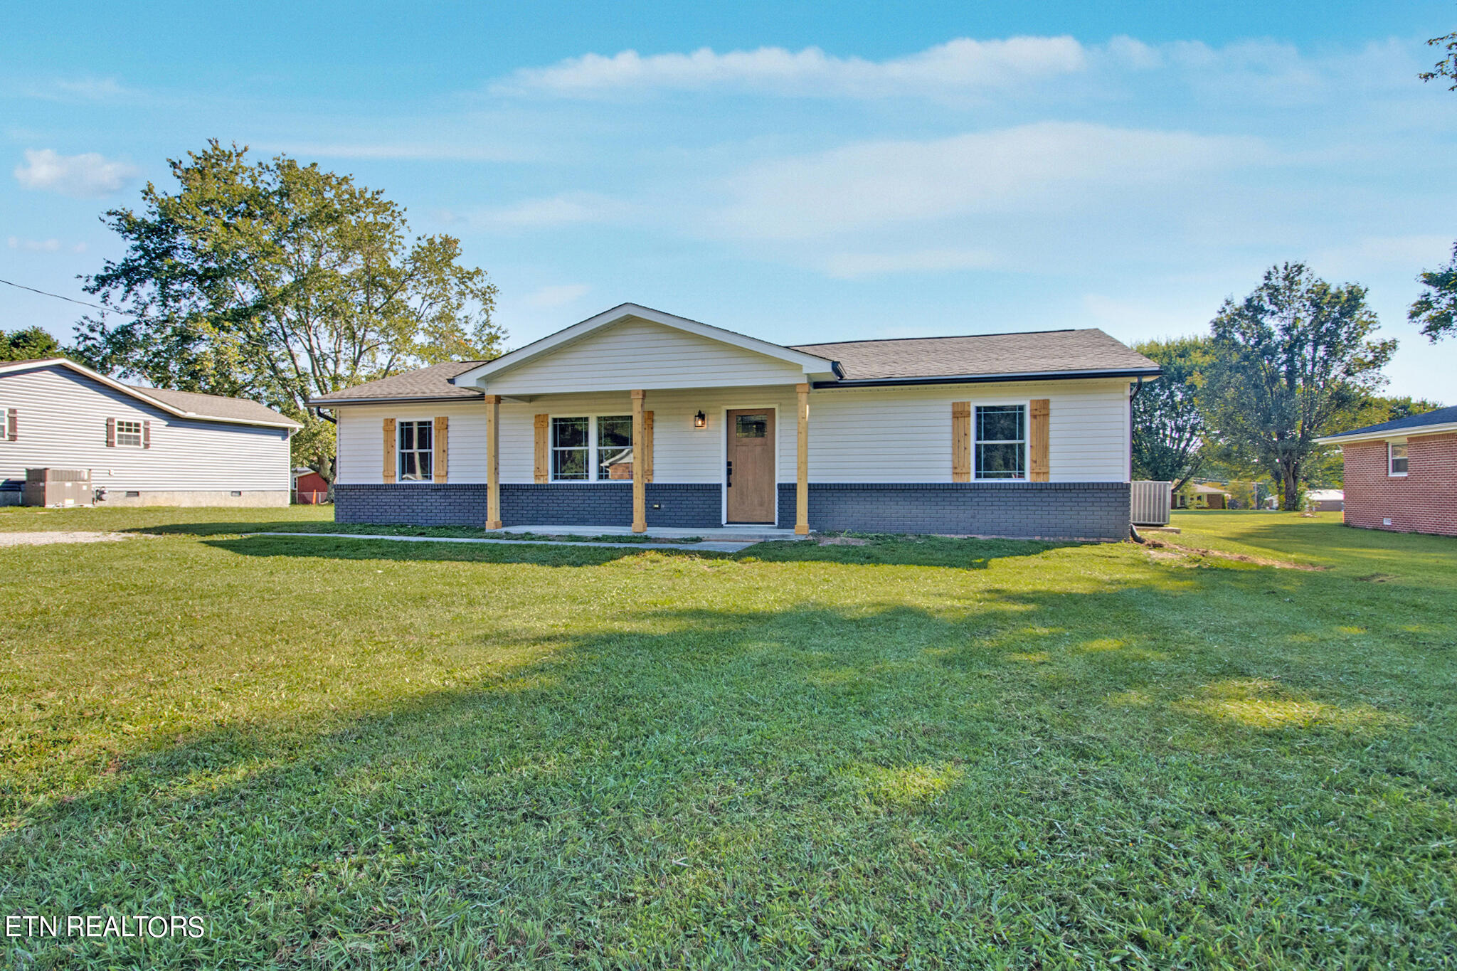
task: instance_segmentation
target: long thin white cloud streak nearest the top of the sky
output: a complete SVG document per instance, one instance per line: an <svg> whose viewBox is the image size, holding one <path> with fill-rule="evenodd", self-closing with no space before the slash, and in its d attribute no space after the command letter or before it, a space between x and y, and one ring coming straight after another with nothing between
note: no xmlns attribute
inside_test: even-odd
<svg viewBox="0 0 1457 971"><path fill-rule="evenodd" d="M1085 51L1071 36L959 38L908 57L868 61L833 57L817 47L788 51L761 47L718 54L612 57L586 54L552 67L523 68L494 86L495 93L543 92L599 96L629 90L726 87L778 95L884 98L1004 89L1027 79L1080 71Z"/></svg>

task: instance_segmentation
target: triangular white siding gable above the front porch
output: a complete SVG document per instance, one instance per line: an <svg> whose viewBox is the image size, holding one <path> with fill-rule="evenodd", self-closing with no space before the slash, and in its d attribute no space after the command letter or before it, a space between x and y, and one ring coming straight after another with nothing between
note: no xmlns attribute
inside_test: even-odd
<svg viewBox="0 0 1457 971"><path fill-rule="evenodd" d="M491 395L794 384L803 368L648 320L593 330L487 379Z"/></svg>

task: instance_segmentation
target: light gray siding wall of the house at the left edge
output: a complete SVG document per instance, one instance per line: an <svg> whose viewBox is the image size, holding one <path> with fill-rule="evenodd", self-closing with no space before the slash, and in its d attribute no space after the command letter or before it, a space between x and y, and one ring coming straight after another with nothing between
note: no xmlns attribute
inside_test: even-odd
<svg viewBox="0 0 1457 971"><path fill-rule="evenodd" d="M0 399L19 409L19 441L0 448L0 477L26 469L90 469L92 483L128 491L288 489L288 432L176 418L63 367L0 374ZM117 427L150 422L150 447L108 447Z"/></svg>

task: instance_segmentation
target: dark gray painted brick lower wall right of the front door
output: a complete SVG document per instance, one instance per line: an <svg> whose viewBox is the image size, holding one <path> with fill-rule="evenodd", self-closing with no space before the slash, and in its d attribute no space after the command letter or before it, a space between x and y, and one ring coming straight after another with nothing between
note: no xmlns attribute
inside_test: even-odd
<svg viewBox="0 0 1457 971"><path fill-rule="evenodd" d="M1056 540L1128 537L1126 482L810 483L810 528ZM779 526L794 527L794 483L779 483Z"/></svg>

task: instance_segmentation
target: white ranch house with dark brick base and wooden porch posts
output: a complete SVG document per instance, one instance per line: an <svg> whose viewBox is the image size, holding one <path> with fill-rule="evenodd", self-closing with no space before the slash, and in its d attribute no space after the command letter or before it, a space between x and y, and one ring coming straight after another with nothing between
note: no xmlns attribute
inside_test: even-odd
<svg viewBox="0 0 1457 971"><path fill-rule="evenodd" d="M1113 540L1157 376L1091 329L782 346L622 304L310 405L341 523Z"/></svg>

